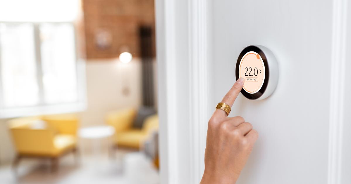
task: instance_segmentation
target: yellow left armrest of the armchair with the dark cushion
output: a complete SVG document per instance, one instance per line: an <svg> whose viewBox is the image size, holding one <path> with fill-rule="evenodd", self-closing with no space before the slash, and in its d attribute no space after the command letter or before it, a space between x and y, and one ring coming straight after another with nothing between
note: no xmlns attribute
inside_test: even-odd
<svg viewBox="0 0 351 184"><path fill-rule="evenodd" d="M126 131L132 127L136 114L135 108L111 111L106 115L106 123L113 126L116 132Z"/></svg>

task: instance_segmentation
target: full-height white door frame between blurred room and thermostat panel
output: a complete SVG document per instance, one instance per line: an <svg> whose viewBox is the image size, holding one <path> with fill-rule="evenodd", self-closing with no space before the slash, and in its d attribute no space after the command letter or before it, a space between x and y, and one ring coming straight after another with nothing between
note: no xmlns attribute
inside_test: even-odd
<svg viewBox="0 0 351 184"><path fill-rule="evenodd" d="M208 101L208 0L156 0L155 10L160 183L199 183L207 121L214 110Z"/></svg>

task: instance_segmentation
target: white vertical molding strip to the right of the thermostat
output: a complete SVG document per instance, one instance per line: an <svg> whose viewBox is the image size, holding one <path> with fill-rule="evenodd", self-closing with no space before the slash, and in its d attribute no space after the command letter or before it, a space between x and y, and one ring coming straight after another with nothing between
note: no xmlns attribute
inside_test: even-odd
<svg viewBox="0 0 351 184"><path fill-rule="evenodd" d="M333 1L328 184L341 183L347 0Z"/></svg>

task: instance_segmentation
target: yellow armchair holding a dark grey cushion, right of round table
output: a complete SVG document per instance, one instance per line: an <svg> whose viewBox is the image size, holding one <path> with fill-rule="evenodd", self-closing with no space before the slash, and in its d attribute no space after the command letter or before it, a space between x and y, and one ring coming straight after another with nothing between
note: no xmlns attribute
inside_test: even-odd
<svg viewBox="0 0 351 184"><path fill-rule="evenodd" d="M158 129L158 116L146 118L142 129L133 128L137 114L135 108L113 111L107 114L107 124L115 128L114 143L118 146L139 149L151 131Z"/></svg>

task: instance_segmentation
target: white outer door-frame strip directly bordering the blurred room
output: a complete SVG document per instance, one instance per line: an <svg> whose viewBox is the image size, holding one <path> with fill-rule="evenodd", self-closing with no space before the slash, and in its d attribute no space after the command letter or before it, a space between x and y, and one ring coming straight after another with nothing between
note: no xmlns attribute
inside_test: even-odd
<svg viewBox="0 0 351 184"><path fill-rule="evenodd" d="M160 183L176 184L177 156L177 88L175 45L175 0L156 0L156 42L158 62L158 114ZM176 150L174 150L176 149Z"/></svg>

